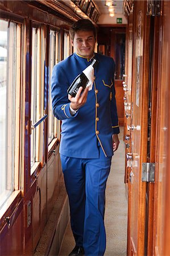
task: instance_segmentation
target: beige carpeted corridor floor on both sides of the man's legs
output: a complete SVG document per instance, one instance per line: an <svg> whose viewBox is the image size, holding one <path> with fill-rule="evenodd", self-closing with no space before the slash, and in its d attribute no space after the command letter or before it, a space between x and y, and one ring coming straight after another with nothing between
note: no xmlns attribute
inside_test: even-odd
<svg viewBox="0 0 170 256"><path fill-rule="evenodd" d="M127 199L124 183L125 143L123 142L123 127L121 127L119 140L119 148L112 158L106 187L105 228L107 245L105 256L126 256ZM68 224L59 255L67 256L73 247L74 238L71 226Z"/></svg>

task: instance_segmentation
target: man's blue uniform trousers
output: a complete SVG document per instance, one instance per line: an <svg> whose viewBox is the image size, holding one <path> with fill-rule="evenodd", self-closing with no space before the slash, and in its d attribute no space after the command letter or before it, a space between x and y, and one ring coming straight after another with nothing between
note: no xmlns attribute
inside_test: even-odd
<svg viewBox="0 0 170 256"><path fill-rule="evenodd" d="M101 256L106 249L103 218L111 157L106 158L100 146L98 150L98 159L60 155L74 239L77 246L84 247L86 256Z"/></svg>

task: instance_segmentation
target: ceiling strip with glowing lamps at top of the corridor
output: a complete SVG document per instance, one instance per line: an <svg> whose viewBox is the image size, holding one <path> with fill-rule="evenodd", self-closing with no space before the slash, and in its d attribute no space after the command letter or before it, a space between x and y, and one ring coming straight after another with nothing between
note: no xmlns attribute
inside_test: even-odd
<svg viewBox="0 0 170 256"><path fill-rule="evenodd" d="M109 14L108 6L106 6L105 0L94 0L96 3L98 10L101 14ZM122 0L111 1L114 7L115 14L123 14L123 2Z"/></svg>

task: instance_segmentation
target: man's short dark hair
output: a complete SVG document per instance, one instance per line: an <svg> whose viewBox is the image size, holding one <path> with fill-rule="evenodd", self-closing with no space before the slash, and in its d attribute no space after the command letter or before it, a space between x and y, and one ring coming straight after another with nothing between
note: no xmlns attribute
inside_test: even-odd
<svg viewBox="0 0 170 256"><path fill-rule="evenodd" d="M72 24L72 27L69 30L69 35L72 40L74 39L76 32L80 30L93 31L94 38L96 40L96 27L94 27L93 23L90 22L89 19L80 19Z"/></svg>

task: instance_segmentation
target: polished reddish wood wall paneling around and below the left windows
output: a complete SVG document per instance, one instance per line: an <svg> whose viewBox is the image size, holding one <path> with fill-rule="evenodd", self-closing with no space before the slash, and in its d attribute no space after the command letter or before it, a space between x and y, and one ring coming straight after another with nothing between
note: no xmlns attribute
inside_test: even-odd
<svg viewBox="0 0 170 256"><path fill-rule="evenodd" d="M22 69L20 88L22 98L20 106L22 109L21 120L22 139L20 141L22 154L20 158L20 182L18 196L14 199L9 208L1 219L1 255L32 255L42 234L45 223L53 208L53 202L59 193L59 180L63 181L63 174L59 159L59 142L53 146L55 155L52 153L52 160L48 159L47 143L43 143L43 162L37 170L30 176L30 108L31 108L31 22L39 22L45 31L45 75L44 86L45 92L48 87L48 28L71 26L72 22L78 19L78 16L70 7L65 7L65 3L60 1L1 1L0 16L6 20L15 20L21 23L22 27ZM48 5L45 5L45 3ZM47 39L47 40L46 40ZM63 51L63 49L62 49ZM61 52L61 44L60 44ZM19 72L19 71L18 71ZM47 112L48 93L44 100L44 109ZM46 113L45 112L45 113ZM28 129L26 129L28 127ZM44 142L47 142L47 119L44 122ZM51 162L50 162L51 160ZM47 170L49 167L49 170ZM59 176L60 171L60 176ZM64 184L61 183L61 186ZM15 191L16 192L16 191ZM22 198L23 197L23 198ZM20 206L22 205L22 207ZM30 205L31 220L28 224L28 205ZM17 214L16 214L17 213ZM10 217L11 226L7 228L4 217Z"/></svg>

